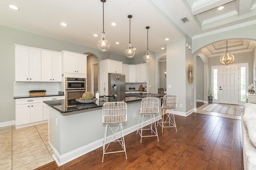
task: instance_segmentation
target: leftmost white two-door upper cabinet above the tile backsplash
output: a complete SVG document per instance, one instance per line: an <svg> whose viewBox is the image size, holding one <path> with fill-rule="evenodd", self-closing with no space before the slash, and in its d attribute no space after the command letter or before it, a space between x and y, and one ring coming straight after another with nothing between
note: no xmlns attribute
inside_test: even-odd
<svg viewBox="0 0 256 170"><path fill-rule="evenodd" d="M41 81L41 51L15 45L15 81Z"/></svg>

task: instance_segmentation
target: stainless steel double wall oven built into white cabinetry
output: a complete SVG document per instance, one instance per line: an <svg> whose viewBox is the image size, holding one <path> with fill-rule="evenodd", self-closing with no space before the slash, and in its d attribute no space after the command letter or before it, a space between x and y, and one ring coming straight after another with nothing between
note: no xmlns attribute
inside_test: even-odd
<svg viewBox="0 0 256 170"><path fill-rule="evenodd" d="M76 99L82 98L86 92L86 78L66 77L66 107L74 107L78 104Z"/></svg>

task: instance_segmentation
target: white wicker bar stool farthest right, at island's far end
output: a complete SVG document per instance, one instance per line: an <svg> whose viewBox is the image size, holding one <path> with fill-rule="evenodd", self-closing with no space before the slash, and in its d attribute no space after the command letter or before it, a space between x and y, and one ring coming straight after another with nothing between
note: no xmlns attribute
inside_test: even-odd
<svg viewBox="0 0 256 170"><path fill-rule="evenodd" d="M162 132L164 127L175 127L177 131L174 113L173 113L173 109L177 107L177 102L178 102L177 95L167 94L164 96L163 103L162 103L162 106L160 106L160 111L159 111L159 115L161 113L162 119L161 121L158 120L157 122L157 126L160 125L162 127ZM166 115L167 117L164 118L164 115ZM166 123L168 125L165 126Z"/></svg>

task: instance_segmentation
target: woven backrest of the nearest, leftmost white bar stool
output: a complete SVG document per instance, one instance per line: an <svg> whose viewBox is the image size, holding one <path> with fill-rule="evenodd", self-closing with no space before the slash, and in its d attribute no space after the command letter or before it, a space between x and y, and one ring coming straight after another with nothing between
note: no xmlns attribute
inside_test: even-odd
<svg viewBox="0 0 256 170"><path fill-rule="evenodd" d="M102 108L102 123L121 123L127 121L125 102L106 102Z"/></svg>

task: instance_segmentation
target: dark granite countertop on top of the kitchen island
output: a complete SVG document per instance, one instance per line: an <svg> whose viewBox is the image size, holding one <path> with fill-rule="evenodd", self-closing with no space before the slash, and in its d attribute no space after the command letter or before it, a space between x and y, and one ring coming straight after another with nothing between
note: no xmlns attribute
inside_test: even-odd
<svg viewBox="0 0 256 170"><path fill-rule="evenodd" d="M150 97L157 97L160 98L164 96L165 94L140 94L140 95L119 95L118 97L107 97L106 102L126 102L129 104L129 102L139 102L142 100L142 98L150 98ZM48 106L54 108L56 111L60 112L61 114L65 115L65 113L70 113L74 111L81 111L84 110L90 111L90 109L101 109L103 104L105 103L103 101L103 98L100 97L99 100L96 100L93 103L90 104L77 104L75 107L66 107L66 100L52 100L52 101L44 101L45 104Z"/></svg>

